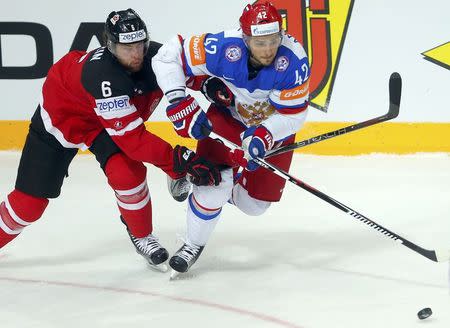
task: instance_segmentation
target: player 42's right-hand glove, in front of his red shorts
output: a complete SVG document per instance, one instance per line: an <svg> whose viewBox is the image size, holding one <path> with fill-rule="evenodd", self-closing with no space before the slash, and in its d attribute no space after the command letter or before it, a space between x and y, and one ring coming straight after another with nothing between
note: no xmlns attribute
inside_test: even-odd
<svg viewBox="0 0 450 328"><path fill-rule="evenodd" d="M266 152L273 147L272 134L264 126L249 127L241 134L242 150L230 152L230 158L239 166L249 171L256 170L259 165L252 158L264 158Z"/></svg>

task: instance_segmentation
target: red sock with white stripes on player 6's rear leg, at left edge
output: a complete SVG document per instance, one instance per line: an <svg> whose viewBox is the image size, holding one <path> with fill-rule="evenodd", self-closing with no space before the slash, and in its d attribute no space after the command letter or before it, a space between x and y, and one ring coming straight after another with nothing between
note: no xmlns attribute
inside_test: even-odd
<svg viewBox="0 0 450 328"><path fill-rule="evenodd" d="M0 248L38 220L47 205L46 198L34 197L17 189L12 191L0 204Z"/></svg>

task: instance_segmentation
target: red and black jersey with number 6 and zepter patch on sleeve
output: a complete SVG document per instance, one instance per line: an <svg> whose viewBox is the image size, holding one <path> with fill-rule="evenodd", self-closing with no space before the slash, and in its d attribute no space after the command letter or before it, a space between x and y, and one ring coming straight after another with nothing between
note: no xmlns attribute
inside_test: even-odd
<svg viewBox="0 0 450 328"><path fill-rule="evenodd" d="M176 176L171 145L143 124L163 96L151 67L160 46L150 43L143 68L136 73L128 72L104 47L62 57L42 88L45 129L64 147L83 150L105 129L130 158Z"/></svg>

